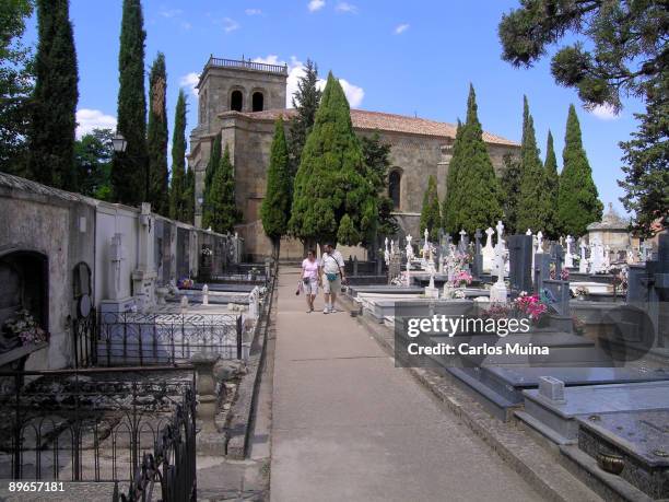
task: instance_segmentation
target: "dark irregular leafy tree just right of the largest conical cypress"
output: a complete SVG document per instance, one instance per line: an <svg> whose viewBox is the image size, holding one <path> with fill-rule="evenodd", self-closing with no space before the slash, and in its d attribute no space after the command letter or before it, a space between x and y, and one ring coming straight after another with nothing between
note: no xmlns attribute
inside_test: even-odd
<svg viewBox="0 0 669 502"><path fill-rule="evenodd" d="M395 206L388 197L388 170L390 168L390 144L380 139L378 131L361 137L363 162L367 167L367 179L378 194L378 235L395 235L399 231L392 214Z"/></svg>

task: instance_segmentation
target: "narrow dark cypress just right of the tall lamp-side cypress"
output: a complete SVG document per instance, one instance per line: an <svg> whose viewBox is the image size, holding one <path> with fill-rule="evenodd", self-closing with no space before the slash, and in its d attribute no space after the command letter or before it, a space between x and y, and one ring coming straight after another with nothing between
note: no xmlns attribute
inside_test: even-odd
<svg viewBox="0 0 669 502"><path fill-rule="evenodd" d="M169 214L166 93L165 55L159 52L149 73L149 201L163 215Z"/></svg>

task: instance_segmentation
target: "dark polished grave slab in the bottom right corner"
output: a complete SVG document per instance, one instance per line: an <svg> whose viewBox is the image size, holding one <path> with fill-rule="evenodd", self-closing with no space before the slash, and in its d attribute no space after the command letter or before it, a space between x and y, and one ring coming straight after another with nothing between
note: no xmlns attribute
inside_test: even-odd
<svg viewBox="0 0 669 502"><path fill-rule="evenodd" d="M607 459L622 460L621 478L653 499L669 498L669 410L592 415L577 421L578 447L600 467Z"/></svg>

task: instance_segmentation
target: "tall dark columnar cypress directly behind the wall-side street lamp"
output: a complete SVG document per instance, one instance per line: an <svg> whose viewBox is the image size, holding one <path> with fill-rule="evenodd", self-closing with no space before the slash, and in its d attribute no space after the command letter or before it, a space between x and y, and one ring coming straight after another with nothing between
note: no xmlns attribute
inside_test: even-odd
<svg viewBox="0 0 669 502"><path fill-rule="evenodd" d="M114 197L118 202L138 205L146 190L146 98L144 95L144 39L140 0L124 0L120 50L118 54L118 125L128 142L116 153L111 168Z"/></svg>

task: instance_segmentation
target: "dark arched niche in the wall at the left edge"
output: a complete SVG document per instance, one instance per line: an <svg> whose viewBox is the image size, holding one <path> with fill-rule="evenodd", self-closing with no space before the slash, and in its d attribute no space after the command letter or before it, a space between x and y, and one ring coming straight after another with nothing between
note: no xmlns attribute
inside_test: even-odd
<svg viewBox="0 0 669 502"><path fill-rule="evenodd" d="M46 255L17 250L0 257L0 353L21 346L9 329L23 311L45 331L48 328L48 261Z"/></svg>

